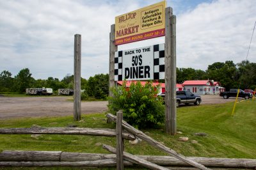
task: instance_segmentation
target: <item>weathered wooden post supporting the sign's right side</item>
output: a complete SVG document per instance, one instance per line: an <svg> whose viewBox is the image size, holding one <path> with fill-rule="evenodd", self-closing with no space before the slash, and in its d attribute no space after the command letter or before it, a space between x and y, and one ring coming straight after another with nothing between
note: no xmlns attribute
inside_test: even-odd
<svg viewBox="0 0 256 170"><path fill-rule="evenodd" d="M176 134L176 20L172 8L165 9L165 132Z"/></svg>

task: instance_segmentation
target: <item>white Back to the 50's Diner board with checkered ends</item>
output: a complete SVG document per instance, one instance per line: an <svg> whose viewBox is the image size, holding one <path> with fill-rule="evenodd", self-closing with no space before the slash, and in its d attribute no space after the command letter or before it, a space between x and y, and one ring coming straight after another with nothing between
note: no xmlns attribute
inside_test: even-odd
<svg viewBox="0 0 256 170"><path fill-rule="evenodd" d="M115 81L164 79L164 44L115 52Z"/></svg>

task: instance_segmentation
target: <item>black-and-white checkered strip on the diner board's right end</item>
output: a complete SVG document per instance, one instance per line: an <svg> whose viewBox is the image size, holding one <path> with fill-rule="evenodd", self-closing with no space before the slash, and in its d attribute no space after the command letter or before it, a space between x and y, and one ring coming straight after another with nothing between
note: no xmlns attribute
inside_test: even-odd
<svg viewBox="0 0 256 170"><path fill-rule="evenodd" d="M154 80L164 79L164 43L154 45Z"/></svg>

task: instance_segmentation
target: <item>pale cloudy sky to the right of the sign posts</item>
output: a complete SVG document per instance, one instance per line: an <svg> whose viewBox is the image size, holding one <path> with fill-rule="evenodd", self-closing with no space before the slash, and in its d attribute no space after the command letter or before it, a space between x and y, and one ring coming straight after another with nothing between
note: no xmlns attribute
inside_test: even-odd
<svg viewBox="0 0 256 170"><path fill-rule="evenodd" d="M214 62L239 63L256 16L255 1L212 1L177 17L177 66L206 70ZM248 60L256 61L255 36Z"/></svg>

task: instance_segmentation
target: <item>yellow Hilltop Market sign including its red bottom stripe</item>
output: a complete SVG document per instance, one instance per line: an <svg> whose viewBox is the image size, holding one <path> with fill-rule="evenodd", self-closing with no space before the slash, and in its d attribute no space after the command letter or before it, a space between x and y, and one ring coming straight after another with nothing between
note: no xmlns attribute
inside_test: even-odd
<svg viewBox="0 0 256 170"><path fill-rule="evenodd" d="M164 36L166 1L115 18L115 45Z"/></svg>

